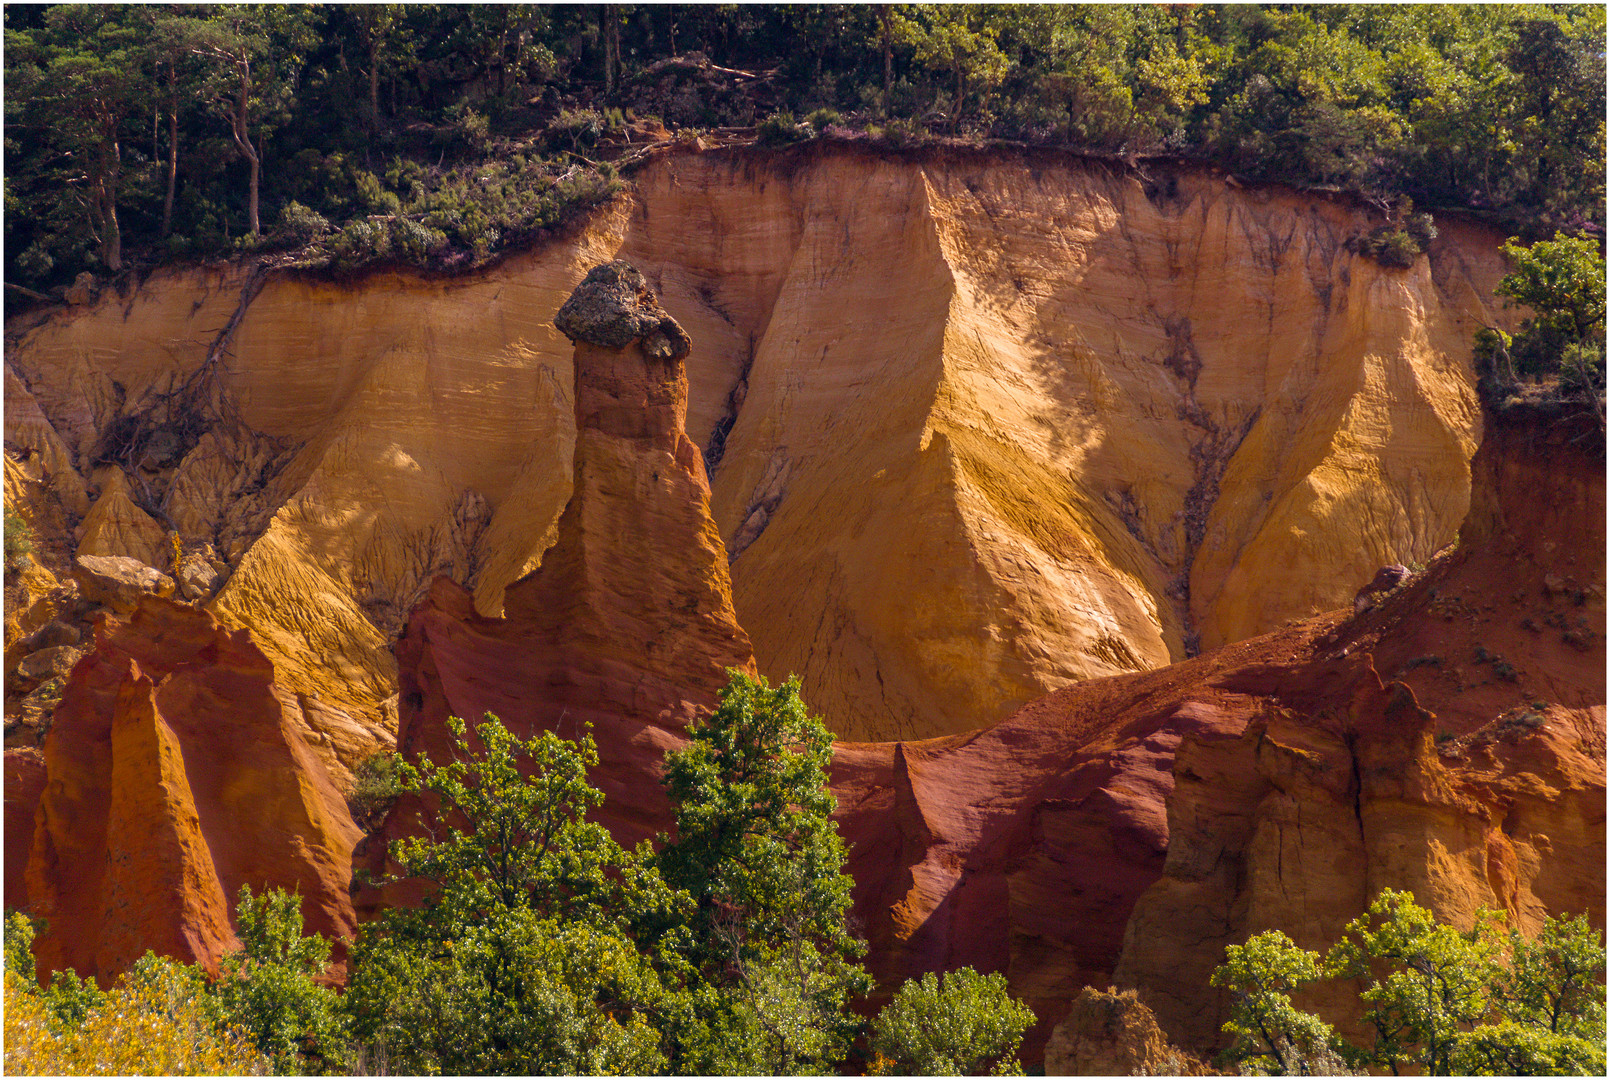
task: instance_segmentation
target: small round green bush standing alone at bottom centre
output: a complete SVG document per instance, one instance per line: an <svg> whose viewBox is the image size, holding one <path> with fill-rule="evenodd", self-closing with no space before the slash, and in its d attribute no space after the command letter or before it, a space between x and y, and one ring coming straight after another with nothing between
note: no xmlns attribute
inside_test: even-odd
<svg viewBox="0 0 1610 1080"><path fill-rule="evenodd" d="M1022 1075L1018 1046L1034 1024L1005 975L971 967L906 980L873 1020L874 1075Z"/></svg>

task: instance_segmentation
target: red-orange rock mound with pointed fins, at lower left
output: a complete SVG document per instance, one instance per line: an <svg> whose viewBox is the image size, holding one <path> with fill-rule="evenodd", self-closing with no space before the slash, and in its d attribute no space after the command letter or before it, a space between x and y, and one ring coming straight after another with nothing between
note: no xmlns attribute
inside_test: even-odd
<svg viewBox="0 0 1610 1080"><path fill-rule="evenodd" d="M55 711L23 847L40 972L105 985L147 950L216 969L238 946L242 885L296 892L309 930L353 934L359 832L272 678L245 631L182 604L145 597L127 621L97 625ZM6 755L8 800L13 753L27 752ZM26 785L34 769L18 765ZM11 858L8 843L8 879Z"/></svg>

